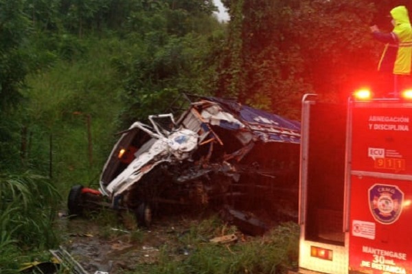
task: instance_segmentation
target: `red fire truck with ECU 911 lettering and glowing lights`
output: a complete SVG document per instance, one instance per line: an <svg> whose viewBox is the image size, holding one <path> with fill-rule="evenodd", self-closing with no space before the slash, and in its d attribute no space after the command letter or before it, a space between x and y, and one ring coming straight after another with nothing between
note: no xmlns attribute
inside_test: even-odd
<svg viewBox="0 0 412 274"><path fill-rule="evenodd" d="M370 94L302 100L298 273L412 273L412 92Z"/></svg>

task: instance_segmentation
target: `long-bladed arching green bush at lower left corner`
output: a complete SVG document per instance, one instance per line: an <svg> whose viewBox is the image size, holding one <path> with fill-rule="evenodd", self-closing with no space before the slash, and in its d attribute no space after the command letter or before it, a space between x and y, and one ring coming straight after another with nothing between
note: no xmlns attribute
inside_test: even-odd
<svg viewBox="0 0 412 274"><path fill-rule="evenodd" d="M0 174L2 268L14 268L15 255L25 248L49 248L56 244L52 223L58 198L52 182L42 176L32 172Z"/></svg>

